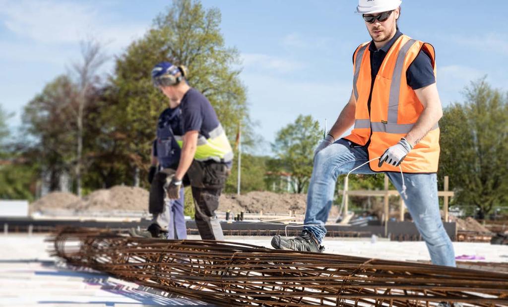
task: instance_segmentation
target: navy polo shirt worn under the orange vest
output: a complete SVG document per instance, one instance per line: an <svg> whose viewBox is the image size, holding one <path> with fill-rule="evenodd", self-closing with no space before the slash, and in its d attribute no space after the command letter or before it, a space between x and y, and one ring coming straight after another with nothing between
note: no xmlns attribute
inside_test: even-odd
<svg viewBox="0 0 508 307"><path fill-rule="evenodd" d="M401 35L402 33L397 30L395 36L385 46L379 49L376 48L373 41L370 42L370 73L372 81L374 81L386 54ZM406 71L407 85L414 90L426 87L436 82L432 61L429 55L422 51L423 50L420 51Z"/></svg>

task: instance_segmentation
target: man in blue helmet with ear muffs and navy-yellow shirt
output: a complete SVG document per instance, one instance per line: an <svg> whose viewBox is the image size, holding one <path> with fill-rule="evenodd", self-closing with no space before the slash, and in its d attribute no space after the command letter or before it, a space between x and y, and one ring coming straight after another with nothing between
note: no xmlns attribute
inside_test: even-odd
<svg viewBox="0 0 508 307"><path fill-rule="evenodd" d="M217 119L210 101L186 82L186 70L161 62L152 70L154 83L172 104L180 106L182 135L176 172L167 184L167 194L178 199L183 180L190 183L196 209L195 221L201 238L224 240L215 215L233 161L226 132Z"/></svg>

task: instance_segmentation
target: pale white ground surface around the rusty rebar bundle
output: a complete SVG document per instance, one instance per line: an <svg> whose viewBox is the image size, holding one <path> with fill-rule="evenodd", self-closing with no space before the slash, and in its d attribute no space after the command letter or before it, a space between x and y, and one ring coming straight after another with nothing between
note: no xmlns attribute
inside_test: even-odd
<svg viewBox="0 0 508 307"><path fill-rule="evenodd" d="M0 306L209 306L183 297L168 297L100 272L69 267L49 255L51 246L44 241L45 237L42 234L0 235ZM189 236L193 238L199 236ZM270 247L270 237L228 236L226 240ZM508 246L464 242L453 245L456 255L475 256L482 262L508 262ZM371 238L327 238L325 246L327 253L334 254L429 260L424 242L377 238L372 243Z"/></svg>

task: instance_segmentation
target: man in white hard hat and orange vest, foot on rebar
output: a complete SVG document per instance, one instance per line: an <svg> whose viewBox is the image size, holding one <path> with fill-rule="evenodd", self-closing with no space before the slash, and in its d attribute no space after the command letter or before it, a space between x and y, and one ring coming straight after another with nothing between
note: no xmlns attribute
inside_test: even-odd
<svg viewBox="0 0 508 307"><path fill-rule="evenodd" d="M337 177L386 173L402 192L406 207L424 238L432 263L455 266L452 242L444 230L437 199L441 103L435 80L434 48L403 35L398 28L400 0L360 0L372 40L353 54L353 92L314 153L302 233L274 236L276 249L323 251L324 227ZM354 125L350 135L340 138ZM379 158L378 158L379 157Z"/></svg>

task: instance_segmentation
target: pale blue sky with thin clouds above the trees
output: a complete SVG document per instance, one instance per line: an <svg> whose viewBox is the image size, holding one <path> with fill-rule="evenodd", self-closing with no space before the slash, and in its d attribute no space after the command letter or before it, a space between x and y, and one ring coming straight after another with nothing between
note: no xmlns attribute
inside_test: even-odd
<svg viewBox="0 0 508 307"><path fill-rule="evenodd" d="M480 4L481 3L481 4ZM140 38L170 1L0 0L0 104L16 116L72 61L93 35L114 56ZM357 1L203 0L222 13L226 44L243 59L241 79L257 132L272 142L282 126L310 114L329 127L352 89L352 53L370 40ZM462 99L469 81L487 75L508 90L508 2L402 2L403 33L436 49L443 106ZM111 71L113 61L105 67ZM147 71L151 67L147 67ZM268 149L268 148L267 148Z"/></svg>

